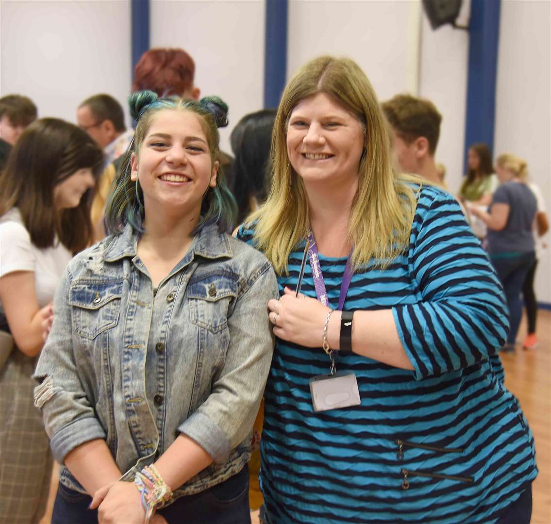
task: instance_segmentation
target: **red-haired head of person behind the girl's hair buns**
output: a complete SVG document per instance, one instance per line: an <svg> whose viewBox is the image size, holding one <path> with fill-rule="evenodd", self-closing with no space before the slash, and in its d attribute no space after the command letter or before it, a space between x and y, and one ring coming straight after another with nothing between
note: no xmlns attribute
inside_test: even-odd
<svg viewBox="0 0 551 524"><path fill-rule="evenodd" d="M150 90L160 97L177 96L199 100L193 84L195 62L183 49L157 47L145 51L134 67L132 91Z"/></svg>

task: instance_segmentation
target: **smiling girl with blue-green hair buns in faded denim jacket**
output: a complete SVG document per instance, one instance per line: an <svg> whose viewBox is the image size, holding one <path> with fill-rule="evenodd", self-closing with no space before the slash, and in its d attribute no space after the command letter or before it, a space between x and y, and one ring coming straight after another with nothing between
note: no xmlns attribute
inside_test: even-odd
<svg viewBox="0 0 551 524"><path fill-rule="evenodd" d="M224 232L235 212L217 160L228 107L152 91L129 102L136 135L107 204L110 236L69 264L35 372L64 464L52 523L155 511L169 523L250 522L245 466L273 351L266 301L278 293L266 258Z"/></svg>

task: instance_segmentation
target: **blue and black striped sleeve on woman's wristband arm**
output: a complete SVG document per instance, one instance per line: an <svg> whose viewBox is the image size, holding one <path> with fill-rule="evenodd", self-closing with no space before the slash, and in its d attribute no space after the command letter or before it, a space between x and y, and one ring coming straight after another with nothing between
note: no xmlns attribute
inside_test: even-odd
<svg viewBox="0 0 551 524"><path fill-rule="evenodd" d="M496 354L509 329L503 289L451 195L422 190L408 266L421 300L392 312L415 378L465 368Z"/></svg>

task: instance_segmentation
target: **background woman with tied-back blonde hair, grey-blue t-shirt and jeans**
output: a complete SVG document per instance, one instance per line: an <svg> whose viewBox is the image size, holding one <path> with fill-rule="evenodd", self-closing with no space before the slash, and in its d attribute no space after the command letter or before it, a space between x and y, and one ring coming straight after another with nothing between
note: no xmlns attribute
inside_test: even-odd
<svg viewBox="0 0 551 524"><path fill-rule="evenodd" d="M500 155L496 172L501 185L495 190L489 211L472 206L471 213L488 227L488 253L503 285L511 329L503 351L515 350L522 317L520 294L536 260L533 236L537 201L526 183L526 162L515 155Z"/></svg>

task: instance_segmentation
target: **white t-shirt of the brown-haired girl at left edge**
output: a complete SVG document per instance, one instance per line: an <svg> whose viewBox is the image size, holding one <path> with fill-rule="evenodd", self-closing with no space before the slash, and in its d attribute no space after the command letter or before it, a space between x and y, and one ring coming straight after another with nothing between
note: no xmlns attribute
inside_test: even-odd
<svg viewBox="0 0 551 524"><path fill-rule="evenodd" d="M0 277L14 271L34 271L36 298L41 308L52 301L63 271L72 258L63 244L39 249L31 243L17 208L0 217ZM0 310L3 312L1 302Z"/></svg>

